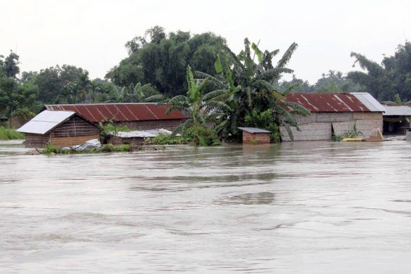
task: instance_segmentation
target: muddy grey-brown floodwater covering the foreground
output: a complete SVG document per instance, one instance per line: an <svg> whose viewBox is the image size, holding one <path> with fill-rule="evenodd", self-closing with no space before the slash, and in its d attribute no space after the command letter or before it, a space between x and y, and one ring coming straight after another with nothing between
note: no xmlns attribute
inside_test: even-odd
<svg viewBox="0 0 411 274"><path fill-rule="evenodd" d="M0 144L0 273L410 273L410 142L25 151Z"/></svg>

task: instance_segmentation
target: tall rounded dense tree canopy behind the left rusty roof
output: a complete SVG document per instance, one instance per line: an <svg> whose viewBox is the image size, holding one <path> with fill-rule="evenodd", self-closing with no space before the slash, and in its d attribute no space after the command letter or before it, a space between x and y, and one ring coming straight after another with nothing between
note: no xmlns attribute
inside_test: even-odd
<svg viewBox="0 0 411 274"><path fill-rule="evenodd" d="M117 86L138 82L152 84L164 95L182 95L186 90L186 66L193 71L214 73L216 53L226 46L225 39L210 32L166 34L163 27L147 29L125 44L129 57L106 75Z"/></svg>

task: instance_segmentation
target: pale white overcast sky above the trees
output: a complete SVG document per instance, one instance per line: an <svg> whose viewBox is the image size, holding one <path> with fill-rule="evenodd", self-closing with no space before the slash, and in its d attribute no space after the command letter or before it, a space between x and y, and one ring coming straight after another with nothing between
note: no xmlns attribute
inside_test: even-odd
<svg viewBox="0 0 411 274"><path fill-rule="evenodd" d="M166 32L214 32L236 53L248 37L260 49L299 48L288 65L316 82L330 69L351 71L356 51L381 62L411 40L411 1L0 0L0 55L20 55L21 71L56 64L91 78L127 57L127 40L155 25Z"/></svg>

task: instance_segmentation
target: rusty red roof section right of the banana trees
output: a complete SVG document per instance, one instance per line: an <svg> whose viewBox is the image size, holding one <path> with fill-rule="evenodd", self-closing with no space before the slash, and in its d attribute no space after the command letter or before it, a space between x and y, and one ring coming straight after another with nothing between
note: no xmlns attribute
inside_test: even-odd
<svg viewBox="0 0 411 274"><path fill-rule="evenodd" d="M349 93L290 93L286 101L299 103L310 112L371 112Z"/></svg>

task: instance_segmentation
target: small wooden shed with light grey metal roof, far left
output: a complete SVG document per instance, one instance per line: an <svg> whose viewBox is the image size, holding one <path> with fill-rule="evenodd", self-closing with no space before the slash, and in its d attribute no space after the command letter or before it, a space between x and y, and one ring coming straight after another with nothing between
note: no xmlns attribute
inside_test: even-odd
<svg viewBox="0 0 411 274"><path fill-rule="evenodd" d="M45 110L17 129L25 133L26 147L59 147L80 145L87 140L99 139L99 128L72 111Z"/></svg>

